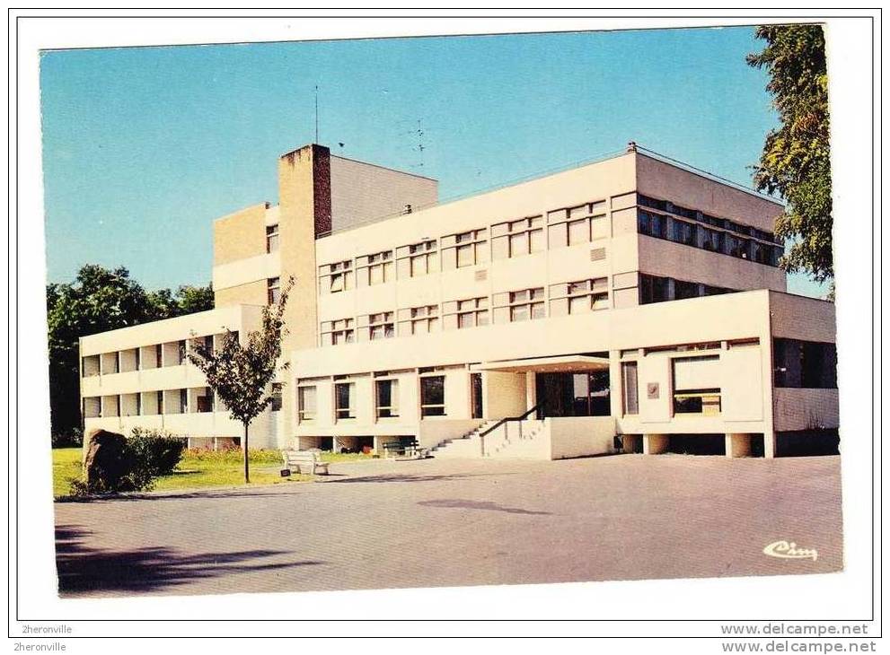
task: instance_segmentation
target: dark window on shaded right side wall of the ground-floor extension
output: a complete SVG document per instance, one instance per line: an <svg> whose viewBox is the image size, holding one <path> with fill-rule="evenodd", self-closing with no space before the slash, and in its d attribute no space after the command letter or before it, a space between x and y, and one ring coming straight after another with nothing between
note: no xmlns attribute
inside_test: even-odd
<svg viewBox="0 0 890 655"><path fill-rule="evenodd" d="M776 387L837 389L837 347L817 341L773 339Z"/></svg>

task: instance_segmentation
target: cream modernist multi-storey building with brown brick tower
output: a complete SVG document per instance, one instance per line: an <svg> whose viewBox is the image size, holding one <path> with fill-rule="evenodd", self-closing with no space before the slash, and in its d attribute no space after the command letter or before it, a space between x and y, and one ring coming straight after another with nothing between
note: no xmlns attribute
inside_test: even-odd
<svg viewBox="0 0 890 655"><path fill-rule="evenodd" d="M215 310L82 339L87 429L236 441L184 352L246 336L293 277L251 445L774 457L836 434L833 304L786 293L769 198L633 146L446 204L320 145L278 175L278 205L214 224Z"/></svg>

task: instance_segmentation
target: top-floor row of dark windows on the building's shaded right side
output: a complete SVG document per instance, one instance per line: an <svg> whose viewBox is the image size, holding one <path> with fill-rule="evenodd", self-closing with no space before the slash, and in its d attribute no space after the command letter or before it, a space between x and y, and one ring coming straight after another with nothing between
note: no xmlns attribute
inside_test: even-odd
<svg viewBox="0 0 890 655"><path fill-rule="evenodd" d="M766 266L779 266L779 260L784 253L781 246L746 239L728 231L712 230L704 225L687 223L672 216L642 209L637 210L637 231L656 239L748 259Z"/></svg>

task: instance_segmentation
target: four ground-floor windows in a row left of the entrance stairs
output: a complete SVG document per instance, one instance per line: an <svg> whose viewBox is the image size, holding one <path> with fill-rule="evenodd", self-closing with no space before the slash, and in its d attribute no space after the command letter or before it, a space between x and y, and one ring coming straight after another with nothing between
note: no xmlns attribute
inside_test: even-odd
<svg viewBox="0 0 890 655"><path fill-rule="evenodd" d="M420 377L420 416L445 416L445 376ZM374 380L375 416L399 417L399 380ZM318 387L301 385L296 389L297 420L312 423L318 417ZM343 421L356 418L356 383L334 383L334 418Z"/></svg>

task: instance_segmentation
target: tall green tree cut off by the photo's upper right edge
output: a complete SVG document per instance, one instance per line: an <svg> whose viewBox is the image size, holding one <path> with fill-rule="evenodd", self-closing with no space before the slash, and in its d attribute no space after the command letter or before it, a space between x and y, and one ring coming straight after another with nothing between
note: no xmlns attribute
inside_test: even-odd
<svg viewBox="0 0 890 655"><path fill-rule="evenodd" d="M766 41L747 62L770 74L767 91L781 126L766 136L754 184L778 192L788 205L776 221L786 240L780 266L804 271L817 282L832 280L832 175L829 144L828 74L820 25L762 25Z"/></svg>

